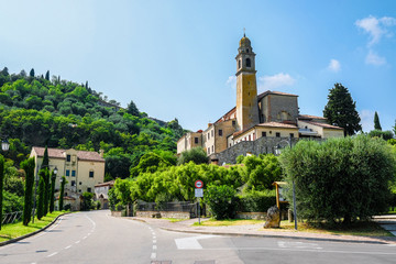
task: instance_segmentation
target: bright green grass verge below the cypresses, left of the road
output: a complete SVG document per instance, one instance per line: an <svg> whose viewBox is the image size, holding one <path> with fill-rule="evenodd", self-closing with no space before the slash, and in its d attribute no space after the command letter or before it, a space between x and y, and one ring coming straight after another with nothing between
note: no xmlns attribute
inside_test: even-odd
<svg viewBox="0 0 396 264"><path fill-rule="evenodd" d="M34 218L34 223L30 222L28 227L23 226L22 221L2 226L0 230L0 242L33 233L46 227L48 223L54 221L56 217L65 212L66 211L54 211L52 213L48 213L46 217L43 217L41 220Z"/></svg>

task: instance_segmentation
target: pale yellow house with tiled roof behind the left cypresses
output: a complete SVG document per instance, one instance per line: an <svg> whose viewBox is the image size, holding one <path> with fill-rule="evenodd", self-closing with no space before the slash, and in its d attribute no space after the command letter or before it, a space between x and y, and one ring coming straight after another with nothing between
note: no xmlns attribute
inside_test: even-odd
<svg viewBox="0 0 396 264"><path fill-rule="evenodd" d="M58 173L55 180L55 189L61 187L61 177L65 176L67 184L65 193L78 195L85 191L94 193L95 186L103 183L105 179L105 158L102 153L47 148L50 169L55 167ZM30 157L34 157L36 169L35 176L43 163L44 147L33 146Z"/></svg>

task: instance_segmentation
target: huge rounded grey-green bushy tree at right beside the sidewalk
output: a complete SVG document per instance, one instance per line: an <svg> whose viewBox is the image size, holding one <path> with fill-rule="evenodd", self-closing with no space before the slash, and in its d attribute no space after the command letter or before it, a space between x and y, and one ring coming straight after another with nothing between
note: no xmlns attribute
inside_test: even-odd
<svg viewBox="0 0 396 264"><path fill-rule="evenodd" d="M388 209L395 175L392 146L366 135L300 141L279 156L285 180L295 183L297 211L309 221L366 220ZM286 196L293 201L293 188Z"/></svg>

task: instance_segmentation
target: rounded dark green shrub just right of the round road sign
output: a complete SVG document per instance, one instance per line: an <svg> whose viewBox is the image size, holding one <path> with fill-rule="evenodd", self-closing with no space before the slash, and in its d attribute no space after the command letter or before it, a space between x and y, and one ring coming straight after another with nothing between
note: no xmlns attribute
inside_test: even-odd
<svg viewBox="0 0 396 264"><path fill-rule="evenodd" d="M237 212L237 191L227 185L210 185L204 196L209 211L217 220L231 219Z"/></svg>

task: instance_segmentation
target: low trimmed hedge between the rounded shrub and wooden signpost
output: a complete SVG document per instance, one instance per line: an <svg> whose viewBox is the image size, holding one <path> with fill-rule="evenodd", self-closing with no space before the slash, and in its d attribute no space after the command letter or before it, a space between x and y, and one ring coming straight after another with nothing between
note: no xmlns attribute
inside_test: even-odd
<svg viewBox="0 0 396 264"><path fill-rule="evenodd" d="M250 191L238 195L237 210L241 212L266 212L274 205L276 205L275 190Z"/></svg>

